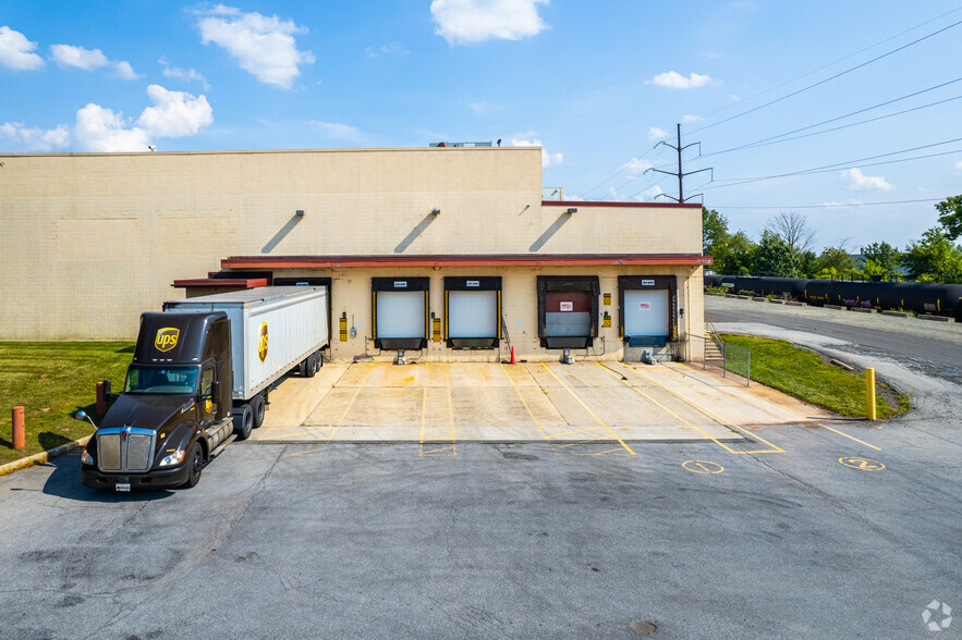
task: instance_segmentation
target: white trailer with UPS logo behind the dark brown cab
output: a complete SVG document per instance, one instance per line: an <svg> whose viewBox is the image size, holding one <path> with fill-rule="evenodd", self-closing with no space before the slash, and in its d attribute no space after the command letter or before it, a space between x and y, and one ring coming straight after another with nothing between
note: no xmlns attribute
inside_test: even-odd
<svg viewBox="0 0 962 640"><path fill-rule="evenodd" d="M231 322L232 397L249 401L299 368L312 377L328 344L326 286L264 286L163 303L165 312L224 311Z"/></svg>

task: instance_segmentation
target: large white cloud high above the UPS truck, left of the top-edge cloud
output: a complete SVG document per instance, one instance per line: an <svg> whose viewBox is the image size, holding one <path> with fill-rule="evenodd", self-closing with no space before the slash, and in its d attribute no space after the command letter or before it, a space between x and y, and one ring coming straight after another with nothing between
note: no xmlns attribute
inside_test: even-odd
<svg viewBox="0 0 962 640"><path fill-rule="evenodd" d="M293 20L242 13L222 4L198 14L203 16L197 21L202 41L227 49L241 69L261 83L290 89L294 78L301 75L297 65L314 62L310 51L297 49L294 34L305 34L307 29Z"/></svg>

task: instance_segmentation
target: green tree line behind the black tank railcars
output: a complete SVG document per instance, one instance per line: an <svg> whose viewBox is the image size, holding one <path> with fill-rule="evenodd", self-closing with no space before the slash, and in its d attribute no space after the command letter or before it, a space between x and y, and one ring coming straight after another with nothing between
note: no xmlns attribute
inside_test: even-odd
<svg viewBox="0 0 962 640"><path fill-rule="evenodd" d="M962 283L962 195L935 205L938 224L899 249L886 242L862 247L856 260L849 239L815 251L815 230L806 216L782 211L768 219L756 243L744 231L729 231L728 219L702 207L702 248L724 275L912 280Z"/></svg>

